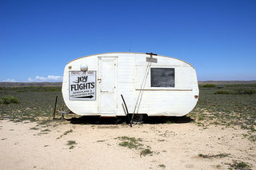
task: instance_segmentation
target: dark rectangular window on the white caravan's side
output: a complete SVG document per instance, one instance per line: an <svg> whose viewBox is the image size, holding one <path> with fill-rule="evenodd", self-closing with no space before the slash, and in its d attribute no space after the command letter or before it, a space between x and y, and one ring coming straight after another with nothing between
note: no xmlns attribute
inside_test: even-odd
<svg viewBox="0 0 256 170"><path fill-rule="evenodd" d="M174 68L151 68L151 87L174 87Z"/></svg>

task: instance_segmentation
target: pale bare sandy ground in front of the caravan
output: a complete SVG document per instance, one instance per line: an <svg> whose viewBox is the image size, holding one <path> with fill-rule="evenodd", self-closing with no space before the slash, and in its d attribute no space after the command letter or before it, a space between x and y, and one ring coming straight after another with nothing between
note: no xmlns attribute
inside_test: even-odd
<svg viewBox="0 0 256 170"><path fill-rule="evenodd" d="M70 130L72 129L72 131ZM1 169L228 169L235 161L256 169L256 144L240 128L193 123L50 125L0 121ZM122 147L120 136L141 138L142 149ZM74 140L74 148L68 145ZM214 157L218 154L226 157ZM202 158L198 154L211 155Z"/></svg>

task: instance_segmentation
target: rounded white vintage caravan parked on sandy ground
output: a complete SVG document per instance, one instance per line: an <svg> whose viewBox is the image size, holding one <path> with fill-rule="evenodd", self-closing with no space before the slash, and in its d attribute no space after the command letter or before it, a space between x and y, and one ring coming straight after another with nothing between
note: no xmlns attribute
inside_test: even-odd
<svg viewBox="0 0 256 170"><path fill-rule="evenodd" d="M181 117L198 102L195 69L154 53L101 53L70 61L62 82L66 106L82 116L129 113Z"/></svg>

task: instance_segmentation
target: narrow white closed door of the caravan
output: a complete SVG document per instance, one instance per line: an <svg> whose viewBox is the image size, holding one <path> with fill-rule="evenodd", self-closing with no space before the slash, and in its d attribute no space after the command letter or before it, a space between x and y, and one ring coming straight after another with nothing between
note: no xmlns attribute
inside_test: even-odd
<svg viewBox="0 0 256 170"><path fill-rule="evenodd" d="M98 113L115 116L118 57L98 57Z"/></svg>

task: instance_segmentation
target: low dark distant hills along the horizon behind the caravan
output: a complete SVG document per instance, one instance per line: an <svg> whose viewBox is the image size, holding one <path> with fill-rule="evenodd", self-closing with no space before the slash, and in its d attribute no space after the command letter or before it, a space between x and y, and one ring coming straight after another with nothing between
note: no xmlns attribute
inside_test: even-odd
<svg viewBox="0 0 256 170"><path fill-rule="evenodd" d="M256 84L256 81L198 81L199 85ZM0 87L62 86L62 82L0 82Z"/></svg>

